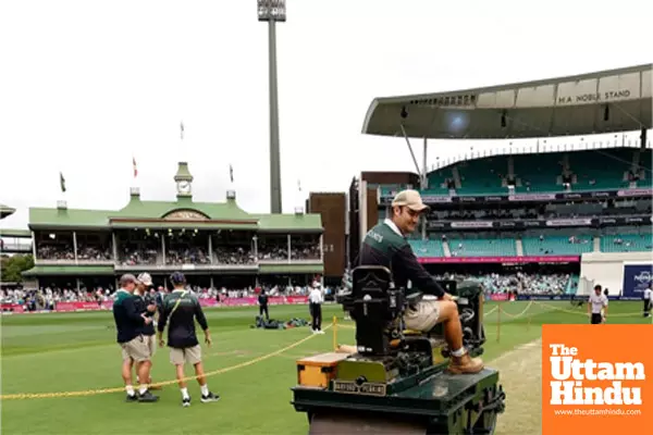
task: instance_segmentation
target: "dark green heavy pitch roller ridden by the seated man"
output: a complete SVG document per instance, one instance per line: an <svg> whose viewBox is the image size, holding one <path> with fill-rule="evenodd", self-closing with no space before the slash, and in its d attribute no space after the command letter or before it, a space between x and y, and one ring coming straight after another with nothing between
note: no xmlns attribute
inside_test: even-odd
<svg viewBox="0 0 653 435"><path fill-rule="evenodd" d="M337 301L356 322L356 347L297 361L295 410L309 434L493 434L505 409L498 372L449 374L442 325L406 331L406 300L382 266L359 266ZM483 353L483 291L476 282L441 282L456 297L470 356Z"/></svg>

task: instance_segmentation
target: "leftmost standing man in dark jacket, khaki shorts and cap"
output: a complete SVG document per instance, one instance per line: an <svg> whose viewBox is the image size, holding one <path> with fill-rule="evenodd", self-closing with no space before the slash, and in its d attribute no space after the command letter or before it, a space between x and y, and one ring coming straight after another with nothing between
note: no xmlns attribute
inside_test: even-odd
<svg viewBox="0 0 653 435"><path fill-rule="evenodd" d="M140 384L138 397L134 393L132 386L132 365L136 362L138 377L141 380L149 378L149 370L151 365L149 349L147 343L141 335L141 328L152 322L151 318L147 318L138 310L134 289L138 282L132 274L122 275L120 278L120 289L116 291L115 300L113 301L113 320L115 321L115 330L118 331L116 340L122 348L123 365L122 376L127 390L127 401L157 401L159 397L153 396L148 389L147 384Z"/></svg>

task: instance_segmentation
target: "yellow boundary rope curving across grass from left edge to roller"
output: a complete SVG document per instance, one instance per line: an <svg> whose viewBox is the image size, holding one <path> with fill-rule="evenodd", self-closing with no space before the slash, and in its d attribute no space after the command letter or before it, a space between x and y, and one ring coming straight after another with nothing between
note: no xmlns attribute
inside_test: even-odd
<svg viewBox="0 0 653 435"><path fill-rule="evenodd" d="M330 328L331 326L333 326L333 324L326 326L324 330ZM218 374L223 374L226 372L231 372L237 369L243 369L246 368L248 365L252 365L256 364L257 362L261 362L264 360L268 360L272 357L276 357L278 355L281 355L287 350L291 350L306 341L308 341L309 339L313 338L315 335L309 335L308 337L304 337L298 341L293 343L292 345L288 345L282 349L275 350L271 353L267 353L263 355L261 357L258 358L254 358L249 361L245 361L242 362L239 364L235 364L235 365L230 365L223 369L218 369L214 370L212 372L208 372L205 373L206 377L209 376L215 376ZM187 376L184 377L183 381L188 382L188 381L193 381L198 378L199 376ZM176 384L177 382L180 382L178 380L172 380L172 381L164 381L164 382L158 382L158 383L153 383L151 384L152 386L164 386L164 385L172 385L172 384ZM101 388L101 389L88 389L88 390L84 390L84 391L57 391L57 393L25 393L25 394L12 394L12 395L2 395L0 396L0 400L19 400L19 399L50 399L50 398L60 398L60 397L84 397L84 396L97 396L97 395L101 395L101 394L110 394L110 393L121 393L124 391L125 387L115 387L115 388Z"/></svg>

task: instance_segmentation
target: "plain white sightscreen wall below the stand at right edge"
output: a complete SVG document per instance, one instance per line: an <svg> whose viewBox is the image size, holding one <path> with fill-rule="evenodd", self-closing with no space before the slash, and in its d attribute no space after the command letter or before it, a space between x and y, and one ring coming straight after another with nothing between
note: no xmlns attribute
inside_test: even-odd
<svg viewBox="0 0 653 435"><path fill-rule="evenodd" d="M628 264L651 264L651 252L588 252L582 254L578 295L589 295L594 285L607 288L611 295L624 289L624 271Z"/></svg>

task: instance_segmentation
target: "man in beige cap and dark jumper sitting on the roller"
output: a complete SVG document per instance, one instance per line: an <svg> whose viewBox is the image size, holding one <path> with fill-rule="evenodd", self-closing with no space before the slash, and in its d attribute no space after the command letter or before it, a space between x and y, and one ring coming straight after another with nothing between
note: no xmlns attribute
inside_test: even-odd
<svg viewBox="0 0 653 435"><path fill-rule="evenodd" d="M406 240L406 235L415 232L420 215L428 210L417 190L398 192L392 201L389 219L377 224L365 236L359 263L390 269L395 285L406 288L407 296L411 298L419 300L423 294L435 296L439 300L419 300L407 309L404 316L406 326L429 332L438 323L444 323L444 337L452 353L449 372L478 373L483 370L483 362L480 358L470 358L463 346L463 328L456 302L419 263ZM408 282L411 288L408 288Z"/></svg>

